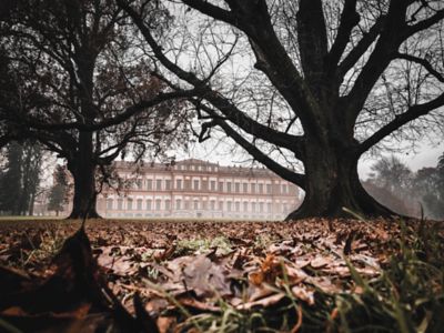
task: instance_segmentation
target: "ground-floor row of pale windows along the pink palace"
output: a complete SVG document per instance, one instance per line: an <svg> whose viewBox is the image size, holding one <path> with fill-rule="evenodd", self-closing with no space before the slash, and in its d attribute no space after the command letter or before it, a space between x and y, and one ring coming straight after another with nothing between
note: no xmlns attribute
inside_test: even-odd
<svg viewBox="0 0 444 333"><path fill-rule="evenodd" d="M145 204L143 205L143 200L142 199L138 199L134 203L134 201L132 199L127 199L127 205L124 206L124 201L123 199L118 199L117 200L117 205L114 204L114 200L112 199L107 199L107 210L147 210L147 211L151 211L151 210L155 210L155 211L160 211L160 210L171 210L171 209L175 209L175 210L211 210L211 211L228 211L228 212L240 212L242 208L242 211L244 212L259 212L259 213L263 213L263 212L272 212L273 205L271 202L240 202L240 201L219 201L216 202L215 200L210 200L210 201L199 201L199 200L182 200L182 199L176 199L174 202L174 206L172 208L172 202L171 200L167 199L163 200L163 204L162 204L162 200L161 199L157 199L157 200L145 200ZM289 209L289 204L287 203L275 203L274 204L274 211L275 212L286 212Z"/></svg>

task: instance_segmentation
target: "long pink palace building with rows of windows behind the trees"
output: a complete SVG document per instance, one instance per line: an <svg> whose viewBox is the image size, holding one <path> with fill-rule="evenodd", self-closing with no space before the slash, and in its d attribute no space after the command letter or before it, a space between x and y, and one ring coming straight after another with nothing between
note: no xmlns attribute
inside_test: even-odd
<svg viewBox="0 0 444 333"><path fill-rule="evenodd" d="M282 220L301 201L300 189L262 168L222 167L190 159L138 168L115 162L131 184L104 188L98 212L105 218L214 218Z"/></svg>

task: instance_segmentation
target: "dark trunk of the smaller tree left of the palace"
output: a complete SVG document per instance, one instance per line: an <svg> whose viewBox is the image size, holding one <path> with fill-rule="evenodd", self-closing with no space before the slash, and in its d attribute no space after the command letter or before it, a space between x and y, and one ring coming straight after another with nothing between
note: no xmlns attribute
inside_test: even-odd
<svg viewBox="0 0 444 333"><path fill-rule="evenodd" d="M100 218L95 210L95 163L91 132L80 132L79 150L75 159L68 161L68 169L74 180L72 211L68 219Z"/></svg>

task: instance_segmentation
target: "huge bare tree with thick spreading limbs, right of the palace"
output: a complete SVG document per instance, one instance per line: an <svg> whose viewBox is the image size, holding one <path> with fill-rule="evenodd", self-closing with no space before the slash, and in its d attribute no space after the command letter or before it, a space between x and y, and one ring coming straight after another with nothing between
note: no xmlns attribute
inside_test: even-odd
<svg viewBox="0 0 444 333"><path fill-rule="evenodd" d="M199 89L189 100L200 140L219 128L305 191L287 219L340 216L344 206L392 214L363 189L360 157L442 133L442 1L159 1L189 22L178 21L169 43L141 13L143 1L118 2L158 77L176 91Z"/></svg>

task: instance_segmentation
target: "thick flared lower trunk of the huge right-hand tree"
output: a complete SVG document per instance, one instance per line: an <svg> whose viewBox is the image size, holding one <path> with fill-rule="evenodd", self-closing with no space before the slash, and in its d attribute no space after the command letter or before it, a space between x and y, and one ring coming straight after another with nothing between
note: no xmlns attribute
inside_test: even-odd
<svg viewBox="0 0 444 333"><path fill-rule="evenodd" d="M307 143L305 198L285 220L350 218L344 208L367 218L397 215L364 190L357 175L359 155L352 149L349 151Z"/></svg>

